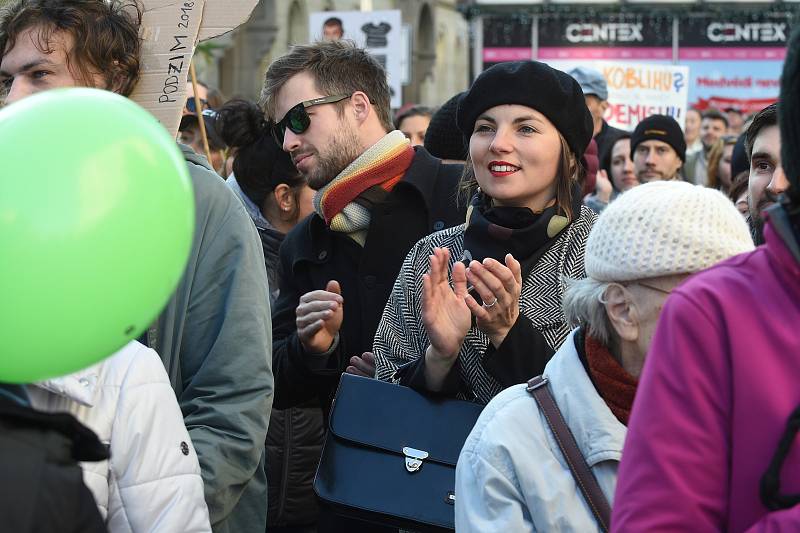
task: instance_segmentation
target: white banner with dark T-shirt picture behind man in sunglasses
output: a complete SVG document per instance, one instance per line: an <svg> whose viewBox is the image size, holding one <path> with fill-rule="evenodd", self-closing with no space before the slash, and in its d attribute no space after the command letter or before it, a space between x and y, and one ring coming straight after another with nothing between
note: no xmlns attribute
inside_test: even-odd
<svg viewBox="0 0 800 533"><path fill-rule="evenodd" d="M404 46L400 10L311 13L308 17L310 41L323 39L322 26L330 18L342 21L343 38L355 41L383 65L392 97L391 106L402 106L404 64L408 62L408 49Z"/></svg>

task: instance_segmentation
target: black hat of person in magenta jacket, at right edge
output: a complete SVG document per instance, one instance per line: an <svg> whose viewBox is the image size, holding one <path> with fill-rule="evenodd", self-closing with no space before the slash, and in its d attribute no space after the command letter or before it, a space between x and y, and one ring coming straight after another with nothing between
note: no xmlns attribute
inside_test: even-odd
<svg viewBox="0 0 800 533"><path fill-rule="evenodd" d="M789 180L786 195L795 206L800 206L800 163L797 147L800 146L800 28L792 33L786 46L786 60L781 75L781 93L778 103L778 125L781 132L781 164Z"/></svg>

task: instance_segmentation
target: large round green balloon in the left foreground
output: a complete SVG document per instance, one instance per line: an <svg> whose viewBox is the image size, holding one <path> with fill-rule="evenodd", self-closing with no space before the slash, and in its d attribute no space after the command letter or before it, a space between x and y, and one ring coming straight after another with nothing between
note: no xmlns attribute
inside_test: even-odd
<svg viewBox="0 0 800 533"><path fill-rule="evenodd" d="M194 196L127 98L59 89L0 111L0 382L85 368L152 323L183 274Z"/></svg>

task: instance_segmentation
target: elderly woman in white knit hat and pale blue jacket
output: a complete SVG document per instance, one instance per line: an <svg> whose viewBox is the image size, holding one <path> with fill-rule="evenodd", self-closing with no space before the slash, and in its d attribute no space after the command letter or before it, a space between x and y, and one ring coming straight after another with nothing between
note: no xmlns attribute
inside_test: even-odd
<svg viewBox="0 0 800 533"><path fill-rule="evenodd" d="M664 301L689 275L752 248L741 215L715 190L653 182L609 205L589 235L587 278L564 295L577 329L542 377L486 406L464 445L457 531L605 531Z"/></svg>

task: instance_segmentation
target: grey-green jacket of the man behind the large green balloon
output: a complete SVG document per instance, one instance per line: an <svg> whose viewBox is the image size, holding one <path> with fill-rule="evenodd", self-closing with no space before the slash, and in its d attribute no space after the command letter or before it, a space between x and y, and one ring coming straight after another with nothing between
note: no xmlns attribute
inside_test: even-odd
<svg viewBox="0 0 800 533"><path fill-rule="evenodd" d="M181 149L195 198L192 250L146 341L164 361L197 450L213 530L263 531L272 403L264 253L241 202L204 157Z"/></svg>

